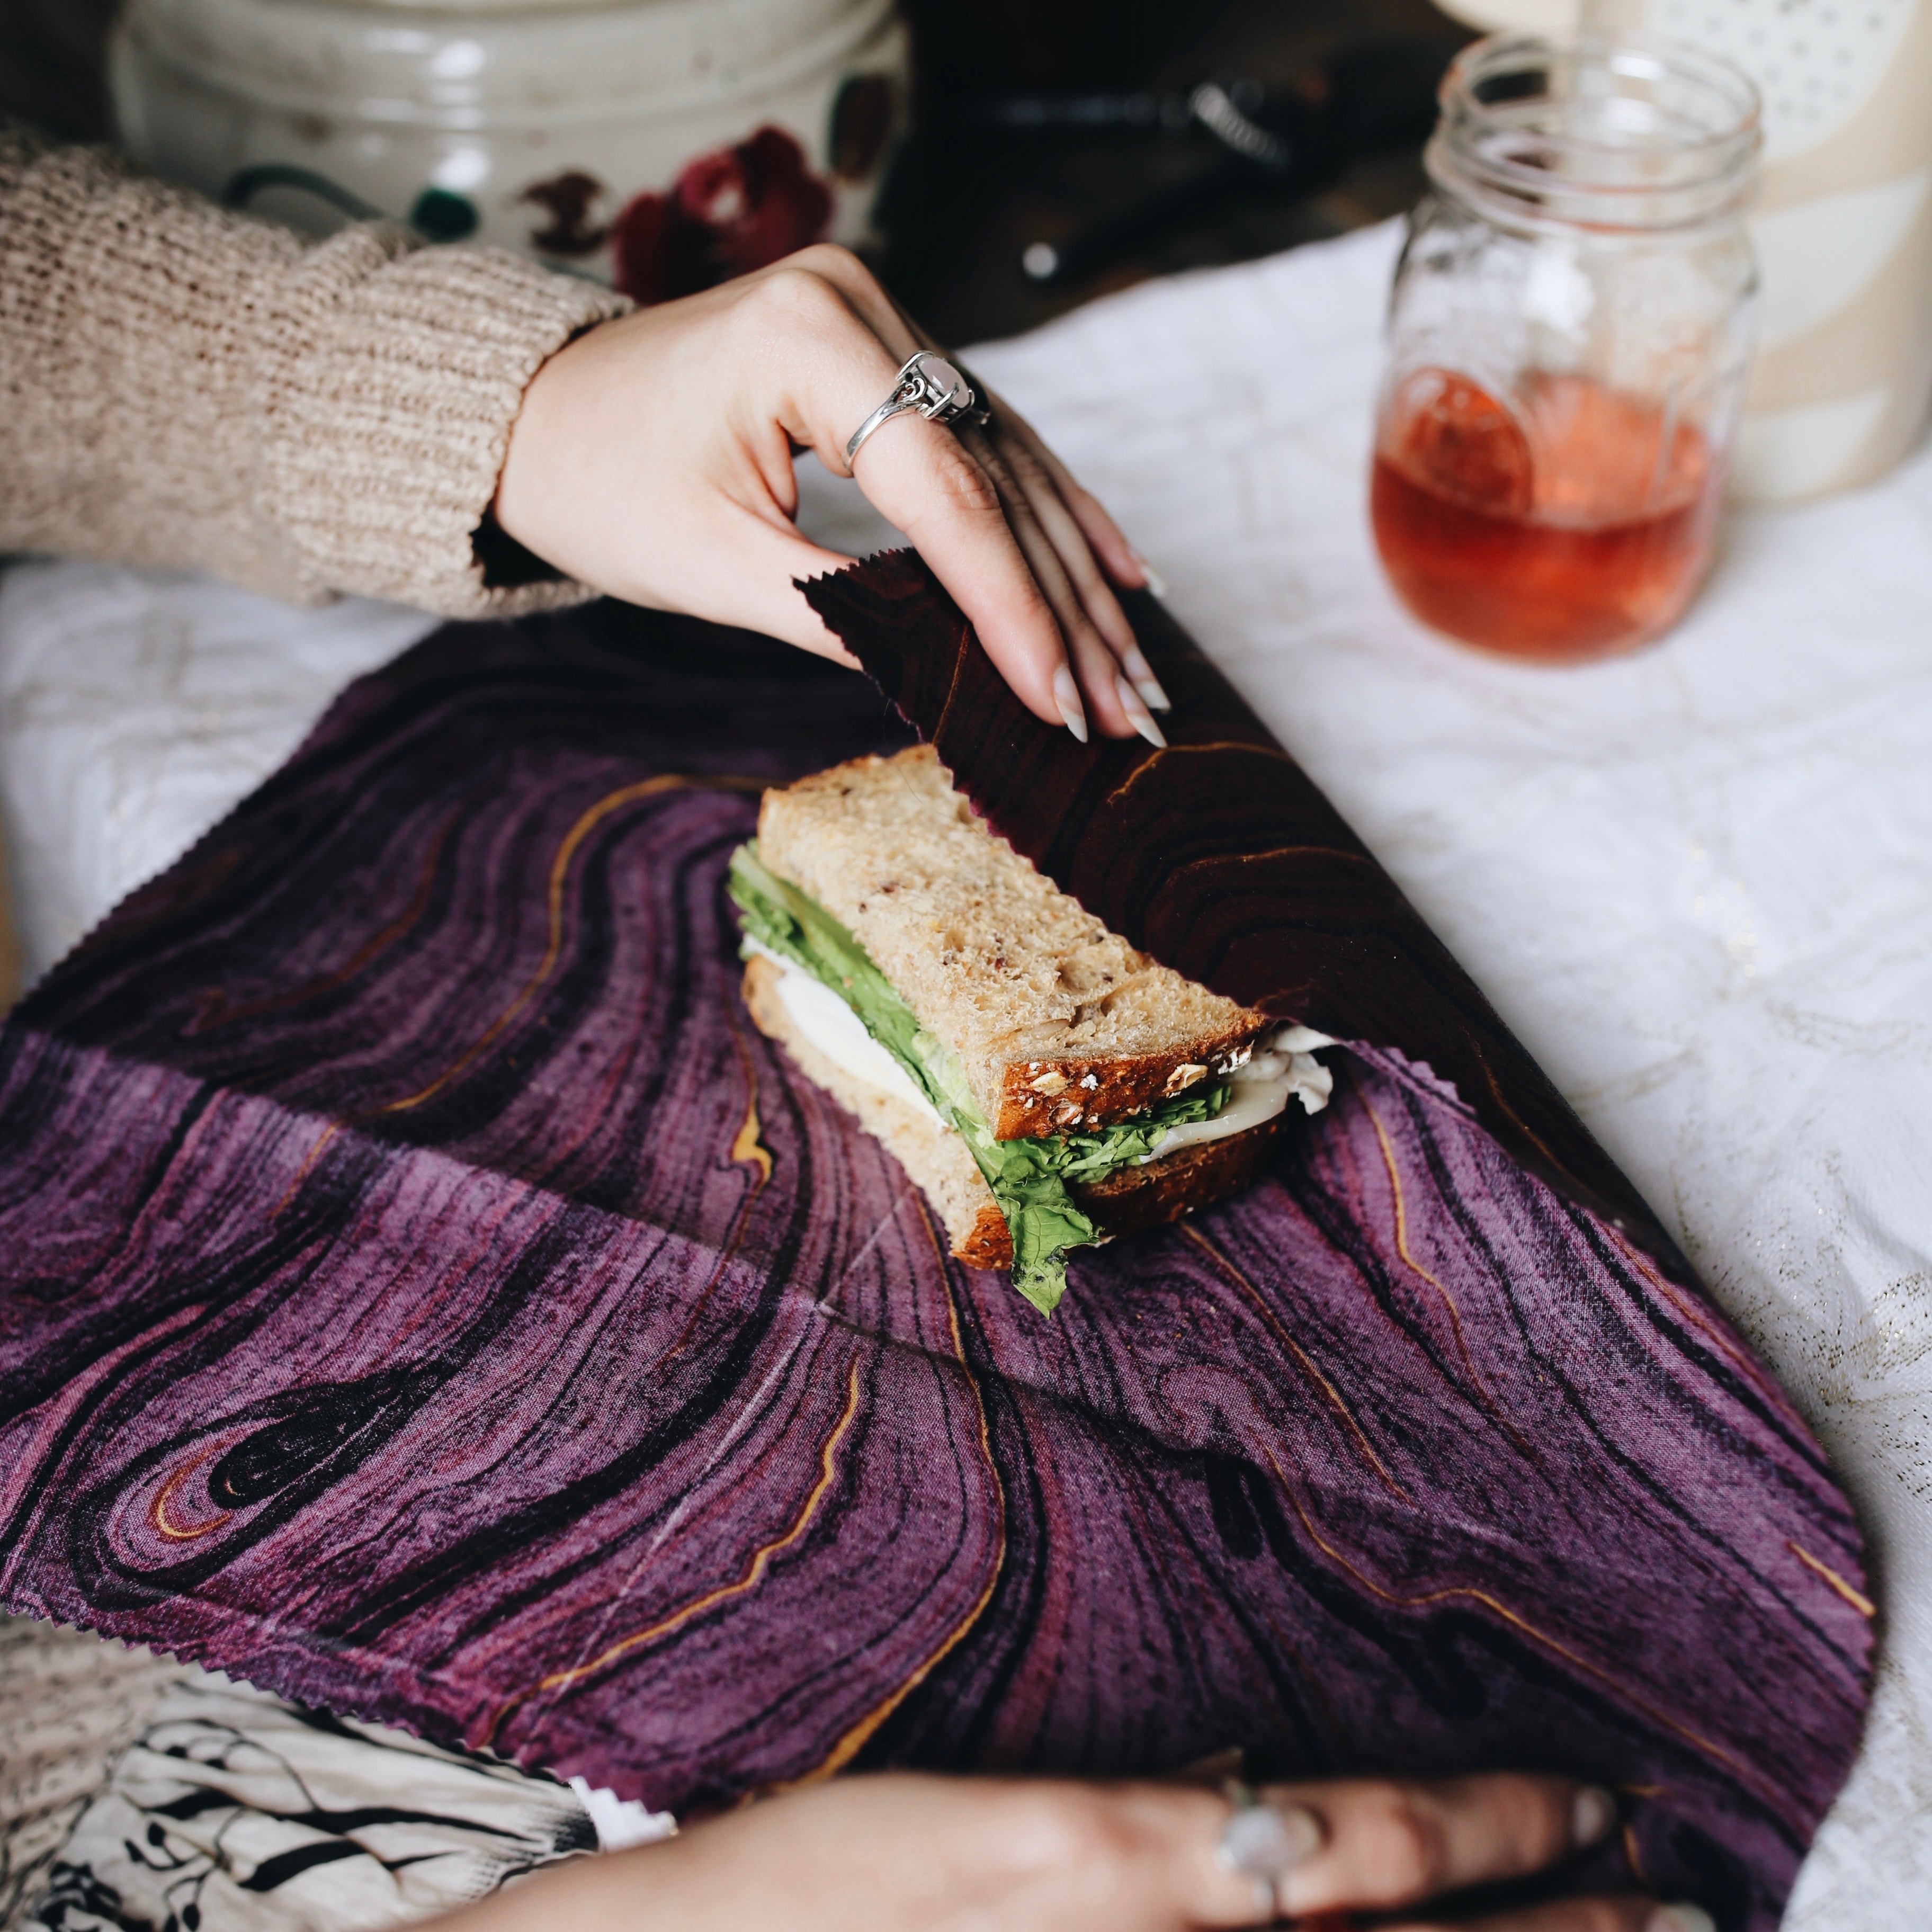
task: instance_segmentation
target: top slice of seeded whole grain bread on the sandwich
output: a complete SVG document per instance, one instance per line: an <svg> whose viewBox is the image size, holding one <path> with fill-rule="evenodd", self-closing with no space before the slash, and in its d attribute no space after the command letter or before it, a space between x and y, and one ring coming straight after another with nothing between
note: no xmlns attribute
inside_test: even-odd
<svg viewBox="0 0 1932 1932"><path fill-rule="evenodd" d="M1107 931L987 831L929 746L767 792L757 844L952 1047L999 1140L1124 1121L1271 1024Z"/></svg>

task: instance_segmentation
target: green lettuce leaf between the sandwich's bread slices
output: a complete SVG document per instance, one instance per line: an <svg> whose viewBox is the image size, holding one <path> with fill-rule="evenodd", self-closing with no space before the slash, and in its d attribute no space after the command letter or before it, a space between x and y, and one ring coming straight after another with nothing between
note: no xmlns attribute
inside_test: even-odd
<svg viewBox="0 0 1932 1932"><path fill-rule="evenodd" d="M1041 1314L1053 1314L1066 1291L1068 1250L1099 1240L1066 1182L1099 1180L1151 1153L1169 1126L1211 1121L1227 1105L1229 1086L1217 1082L1092 1134L995 1140L952 1049L920 1026L844 925L759 862L755 840L732 854L728 885L746 933L838 993L966 1142L1012 1235L1012 1285Z"/></svg>

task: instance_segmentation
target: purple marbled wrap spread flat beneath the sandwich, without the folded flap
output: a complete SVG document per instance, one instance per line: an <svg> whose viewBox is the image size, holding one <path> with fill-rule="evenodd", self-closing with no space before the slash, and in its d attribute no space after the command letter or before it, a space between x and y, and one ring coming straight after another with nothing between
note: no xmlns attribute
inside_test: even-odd
<svg viewBox="0 0 1932 1932"><path fill-rule="evenodd" d="M1770 1932L1859 1536L1690 1285L1401 1066L1051 1321L748 1022L757 792L904 732L452 626L0 1036L0 1602L678 1812L887 1764L1528 1766Z"/></svg>

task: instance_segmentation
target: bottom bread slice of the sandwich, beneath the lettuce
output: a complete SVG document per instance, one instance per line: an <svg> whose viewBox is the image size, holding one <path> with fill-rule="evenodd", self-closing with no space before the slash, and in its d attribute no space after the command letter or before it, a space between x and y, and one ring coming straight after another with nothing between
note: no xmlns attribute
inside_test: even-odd
<svg viewBox="0 0 1932 1932"><path fill-rule="evenodd" d="M867 1088L827 1061L798 1032L777 989L779 968L771 960L746 962L744 1003L752 1022L792 1057L808 1080L825 1088L898 1159L939 1211L952 1254L968 1267L1012 1267L1007 1217L974 1165L966 1142L951 1128L935 1128L904 1101ZM1076 1184L1070 1192L1107 1236L1179 1221L1184 1213L1223 1200L1254 1180L1285 1121L1287 1115L1277 1115L1244 1134L1182 1148L1146 1167L1122 1167L1094 1186Z"/></svg>

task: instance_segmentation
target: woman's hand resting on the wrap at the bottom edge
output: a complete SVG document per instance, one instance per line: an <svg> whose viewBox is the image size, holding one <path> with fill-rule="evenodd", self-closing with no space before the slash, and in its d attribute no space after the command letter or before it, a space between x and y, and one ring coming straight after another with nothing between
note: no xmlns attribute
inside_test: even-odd
<svg viewBox="0 0 1932 1932"><path fill-rule="evenodd" d="M1615 1826L1607 1793L1559 1777L1345 1779L1258 1797L1236 1814L1198 1785L850 1777L543 1874L448 1932L1194 1932L1277 1913L1314 1932L1350 1909L1412 1932L1439 1922L1445 1893L1561 1864ZM1696 1907L1638 1895L1459 1922L1712 1932Z"/></svg>

